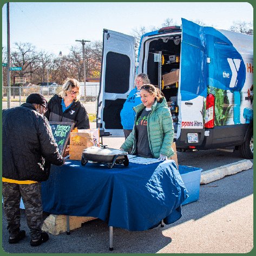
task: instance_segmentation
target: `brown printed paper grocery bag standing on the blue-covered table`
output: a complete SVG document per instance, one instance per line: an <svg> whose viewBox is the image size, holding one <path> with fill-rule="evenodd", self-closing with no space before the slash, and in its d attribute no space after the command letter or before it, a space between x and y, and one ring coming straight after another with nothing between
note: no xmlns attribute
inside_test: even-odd
<svg viewBox="0 0 256 256"><path fill-rule="evenodd" d="M82 152L85 148L94 145L93 133L89 132L71 132L70 133L70 146L69 146L69 159L81 160Z"/></svg>

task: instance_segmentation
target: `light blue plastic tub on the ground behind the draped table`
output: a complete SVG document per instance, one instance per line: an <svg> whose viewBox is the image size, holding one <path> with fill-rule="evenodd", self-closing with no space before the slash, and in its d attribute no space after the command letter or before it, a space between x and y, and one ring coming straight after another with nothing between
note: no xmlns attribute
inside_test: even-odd
<svg viewBox="0 0 256 256"><path fill-rule="evenodd" d="M192 166L180 166L179 172L183 183L188 191L188 198L182 203L182 205L189 204L190 202L198 201L201 179L201 168Z"/></svg>

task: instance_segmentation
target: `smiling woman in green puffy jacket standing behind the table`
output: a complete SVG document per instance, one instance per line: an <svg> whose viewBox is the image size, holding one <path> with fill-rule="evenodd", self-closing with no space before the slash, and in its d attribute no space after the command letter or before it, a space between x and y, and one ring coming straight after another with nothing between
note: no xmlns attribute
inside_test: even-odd
<svg viewBox="0 0 256 256"><path fill-rule="evenodd" d="M174 128L172 115L165 97L152 84L145 84L140 90L142 104L134 107L136 116L132 133L121 149L141 157L159 160L170 159Z"/></svg>

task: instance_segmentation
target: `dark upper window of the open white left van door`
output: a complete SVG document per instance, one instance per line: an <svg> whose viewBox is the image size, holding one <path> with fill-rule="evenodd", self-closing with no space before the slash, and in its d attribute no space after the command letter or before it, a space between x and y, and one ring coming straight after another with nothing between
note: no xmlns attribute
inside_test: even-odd
<svg viewBox="0 0 256 256"><path fill-rule="evenodd" d="M130 58L109 51L106 56L105 92L123 94L129 90Z"/></svg>

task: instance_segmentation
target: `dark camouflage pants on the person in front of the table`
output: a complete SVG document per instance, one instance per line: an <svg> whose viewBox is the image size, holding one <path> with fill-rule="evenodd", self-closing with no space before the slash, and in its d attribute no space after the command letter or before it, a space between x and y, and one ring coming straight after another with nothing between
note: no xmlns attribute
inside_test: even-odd
<svg viewBox="0 0 256 256"><path fill-rule="evenodd" d="M16 184L3 182L4 214L8 223L10 237L17 237L21 226L21 197L25 206L27 224L31 239L40 239L43 225L41 183Z"/></svg>

